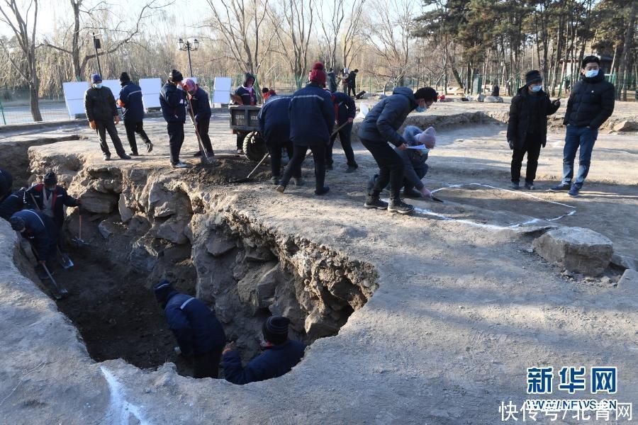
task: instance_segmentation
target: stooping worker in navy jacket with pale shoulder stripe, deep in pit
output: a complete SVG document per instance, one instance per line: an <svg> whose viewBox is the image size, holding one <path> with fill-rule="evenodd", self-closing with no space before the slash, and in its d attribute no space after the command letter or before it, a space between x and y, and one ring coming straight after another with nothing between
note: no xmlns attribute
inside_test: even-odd
<svg viewBox="0 0 638 425"><path fill-rule="evenodd" d="M176 351L192 360L194 378L218 378L226 336L213 310L197 298L177 292L168 280L157 283L153 291L177 339Z"/></svg>

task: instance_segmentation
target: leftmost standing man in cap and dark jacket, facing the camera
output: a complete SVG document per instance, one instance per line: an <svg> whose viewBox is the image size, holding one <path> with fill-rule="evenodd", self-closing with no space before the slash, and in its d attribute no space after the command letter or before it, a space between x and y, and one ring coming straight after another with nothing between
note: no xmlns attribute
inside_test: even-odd
<svg viewBox="0 0 638 425"><path fill-rule="evenodd" d="M118 157L130 159L124 152L122 141L118 136L116 124L120 122L118 107L111 89L102 86L100 74L91 75L91 87L84 93L84 112L89 120L89 127L97 132L100 138L100 149L104 154L104 161L111 159L111 151L106 145L106 132L111 137L113 147L115 147Z"/></svg>

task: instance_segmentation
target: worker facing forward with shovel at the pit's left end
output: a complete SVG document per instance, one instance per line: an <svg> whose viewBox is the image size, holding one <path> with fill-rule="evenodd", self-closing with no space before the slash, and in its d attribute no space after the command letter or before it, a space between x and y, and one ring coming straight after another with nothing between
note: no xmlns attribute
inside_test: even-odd
<svg viewBox="0 0 638 425"><path fill-rule="evenodd" d="M62 186L57 185L57 176L53 171L45 174L42 183L31 186L24 193L24 204L27 208L33 208L52 218L57 233L62 234L62 226L65 224L65 206L79 207L82 201L67 194ZM63 237L60 237L60 249L64 252Z"/></svg>

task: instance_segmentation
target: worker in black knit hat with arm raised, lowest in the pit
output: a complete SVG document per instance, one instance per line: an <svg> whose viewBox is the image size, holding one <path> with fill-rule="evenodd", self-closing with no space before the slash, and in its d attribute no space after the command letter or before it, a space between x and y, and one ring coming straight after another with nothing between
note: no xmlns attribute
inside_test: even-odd
<svg viewBox="0 0 638 425"><path fill-rule="evenodd" d="M228 382L244 385L271 378L278 378L301 361L306 344L288 339L290 319L272 316L262 326L264 353L252 359L242 368L242 359L233 343L224 349L224 376Z"/></svg>

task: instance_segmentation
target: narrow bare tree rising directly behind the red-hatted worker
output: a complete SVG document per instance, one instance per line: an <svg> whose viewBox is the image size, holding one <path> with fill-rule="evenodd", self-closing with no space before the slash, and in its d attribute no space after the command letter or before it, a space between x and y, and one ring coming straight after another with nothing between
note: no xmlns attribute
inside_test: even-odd
<svg viewBox="0 0 638 425"><path fill-rule="evenodd" d="M282 0L281 13L270 11L281 55L288 61L297 88L308 70L308 45L315 18L314 0ZM280 17L281 16L281 17Z"/></svg>

